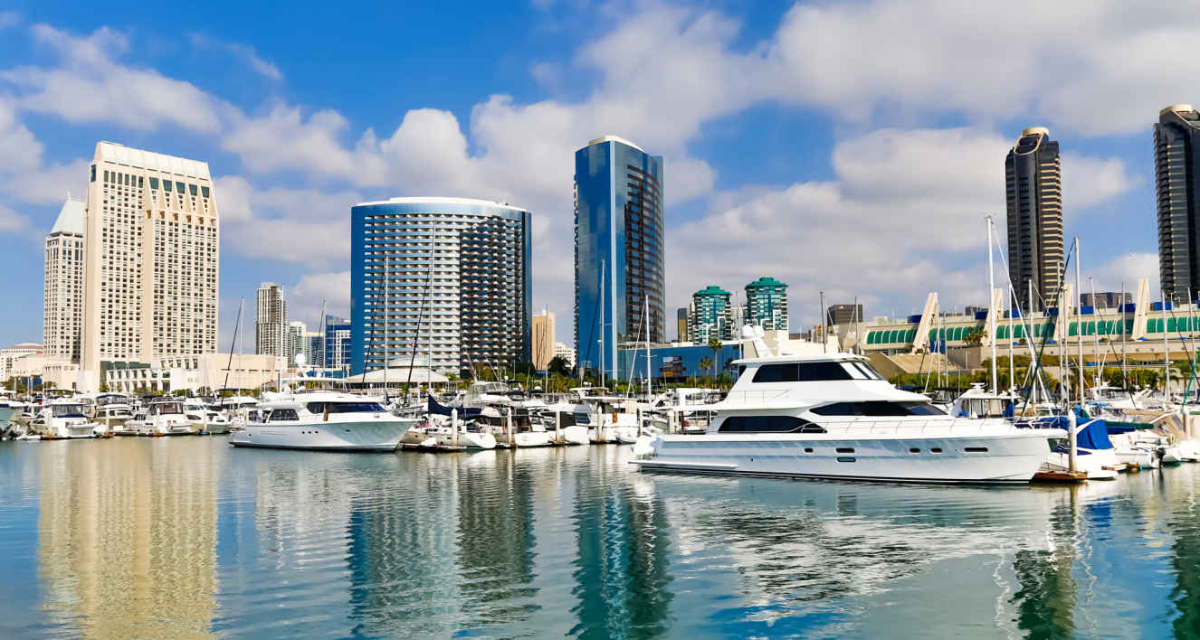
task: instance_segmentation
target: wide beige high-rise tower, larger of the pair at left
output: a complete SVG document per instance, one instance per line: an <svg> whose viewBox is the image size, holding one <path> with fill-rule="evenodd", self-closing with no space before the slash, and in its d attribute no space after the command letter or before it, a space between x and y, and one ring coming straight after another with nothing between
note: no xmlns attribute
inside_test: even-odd
<svg viewBox="0 0 1200 640"><path fill-rule="evenodd" d="M88 183L83 388L101 363L217 349L220 231L209 165L96 144Z"/></svg>

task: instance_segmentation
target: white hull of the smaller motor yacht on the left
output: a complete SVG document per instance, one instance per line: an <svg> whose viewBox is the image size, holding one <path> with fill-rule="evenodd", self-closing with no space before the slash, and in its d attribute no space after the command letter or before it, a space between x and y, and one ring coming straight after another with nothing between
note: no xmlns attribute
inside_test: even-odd
<svg viewBox="0 0 1200 640"><path fill-rule="evenodd" d="M343 422L316 424L250 423L235 431L229 443L235 447L262 447L305 451L391 452L416 421Z"/></svg>

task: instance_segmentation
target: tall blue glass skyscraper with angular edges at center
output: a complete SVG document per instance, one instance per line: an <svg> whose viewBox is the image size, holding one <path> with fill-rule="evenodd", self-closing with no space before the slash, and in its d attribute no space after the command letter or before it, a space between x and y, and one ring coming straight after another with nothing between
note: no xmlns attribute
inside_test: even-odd
<svg viewBox="0 0 1200 640"><path fill-rule="evenodd" d="M617 346L647 338L647 303L649 340L666 340L664 244L662 157L616 135L576 151L575 346L588 367L614 375Z"/></svg>

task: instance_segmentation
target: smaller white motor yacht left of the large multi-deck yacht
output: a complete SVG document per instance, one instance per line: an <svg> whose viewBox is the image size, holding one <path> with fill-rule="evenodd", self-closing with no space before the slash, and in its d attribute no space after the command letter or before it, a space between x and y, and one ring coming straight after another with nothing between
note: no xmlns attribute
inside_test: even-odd
<svg viewBox="0 0 1200 640"><path fill-rule="evenodd" d="M332 391L275 394L229 442L235 447L316 451L396 451L415 418L392 416L379 403Z"/></svg>

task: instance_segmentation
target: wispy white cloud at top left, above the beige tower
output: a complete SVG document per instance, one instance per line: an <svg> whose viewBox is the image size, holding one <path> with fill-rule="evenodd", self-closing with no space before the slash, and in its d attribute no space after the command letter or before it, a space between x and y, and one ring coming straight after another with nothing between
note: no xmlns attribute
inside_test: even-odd
<svg viewBox="0 0 1200 640"><path fill-rule="evenodd" d="M174 125L204 133L218 131L233 111L191 83L116 62L128 41L112 29L76 37L40 24L32 35L59 54L61 66L0 72L0 79L18 87L17 103L23 109L73 123L115 122L139 131Z"/></svg>

